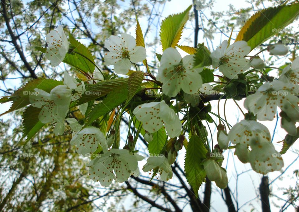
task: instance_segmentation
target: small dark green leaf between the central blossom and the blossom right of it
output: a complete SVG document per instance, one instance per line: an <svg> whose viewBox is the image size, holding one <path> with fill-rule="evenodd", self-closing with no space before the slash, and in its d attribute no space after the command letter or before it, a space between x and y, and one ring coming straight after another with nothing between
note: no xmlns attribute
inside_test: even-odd
<svg viewBox="0 0 299 212"><path fill-rule="evenodd" d="M211 65L212 59L210 58L210 54L211 52L209 51L209 49L205 47L204 43L198 44L196 53L194 54L194 68L200 68Z"/></svg>

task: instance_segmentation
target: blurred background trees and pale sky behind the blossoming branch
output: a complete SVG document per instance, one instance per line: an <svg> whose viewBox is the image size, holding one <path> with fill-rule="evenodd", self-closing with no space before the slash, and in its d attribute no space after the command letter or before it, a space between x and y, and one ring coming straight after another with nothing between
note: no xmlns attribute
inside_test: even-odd
<svg viewBox="0 0 299 212"><path fill-rule="evenodd" d="M178 2L1 0L1 96L11 95L33 78L61 80L64 70L73 75L80 75L65 64L58 67L50 66L45 55L35 49L36 46L46 46L45 35L58 25L68 29L76 39L93 52L95 62L102 70L112 72L103 64L103 55L106 51L104 41L110 35L120 35L123 32L135 36L135 16L138 16L148 55L161 51L160 22L165 18L165 13L183 11L184 8L177 8ZM194 5L180 45L197 46L197 43L205 42L205 45L213 50L220 44L219 39L224 40L230 36L232 28L233 35L236 35L254 12L265 7L278 6L285 1L244 1L238 2L237 5L228 5L226 11L215 12L214 7L219 2L221 1L194 0L183 3L185 7L192 3ZM278 31L278 34L268 41L268 44L282 41L291 52L279 60L266 55L264 60L267 61L268 66L274 65L274 61L285 65L286 62L290 62L288 58L294 59L297 56L299 42L297 29L298 22L295 21L286 30ZM148 61L151 69L157 70L157 58L153 56L148 58ZM9 105L4 104L1 107L1 112L4 112ZM125 183L113 183L111 187L102 187L89 180L87 159L80 157L74 147L69 145L70 130L63 136L55 136L50 127L42 128L23 149L22 111L15 111L9 116L1 117L0 211L234 212L270 211L270 208L274 211L299 211L298 170L292 166L296 164L299 157L295 145L292 152L298 157L288 163L290 166L286 165L283 172L276 173L277 178L273 177L270 180L267 176L260 176L260 185L255 185L255 197L248 196L245 201L243 197L242 204L239 203L240 194L238 196L238 189L235 187L238 185L239 177L247 171L236 172L230 178L229 185L236 185L231 190L230 187L220 190L206 179L197 198L185 179L183 160L179 161L179 159L173 164L174 177L171 181L162 182L154 179L149 182L150 177L141 173L140 177L132 176ZM80 115L78 111L70 114L77 119ZM123 119L122 126L127 124L126 119ZM126 134L126 130L124 131ZM140 140L144 145L139 149L146 149L147 142L142 137ZM142 151L141 153L146 154ZM285 172L289 167L294 171L291 176L286 175ZM283 179L288 178L295 179L295 185L284 185ZM277 179L279 186L276 190L280 190L284 195L277 195L272 191L271 184ZM241 183L253 184L252 181L244 180ZM239 192L243 192L246 196L246 190ZM219 205L222 205L221 210Z"/></svg>

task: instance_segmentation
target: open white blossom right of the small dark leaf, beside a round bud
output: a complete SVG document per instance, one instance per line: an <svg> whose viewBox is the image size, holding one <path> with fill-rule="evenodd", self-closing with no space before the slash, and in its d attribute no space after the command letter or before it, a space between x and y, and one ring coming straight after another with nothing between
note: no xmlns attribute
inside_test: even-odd
<svg viewBox="0 0 299 212"><path fill-rule="evenodd" d="M249 60L244 58L250 52L250 47L245 41L237 41L228 46L224 40L217 49L211 53L213 68L229 79L237 79L238 74L244 73L249 67Z"/></svg>

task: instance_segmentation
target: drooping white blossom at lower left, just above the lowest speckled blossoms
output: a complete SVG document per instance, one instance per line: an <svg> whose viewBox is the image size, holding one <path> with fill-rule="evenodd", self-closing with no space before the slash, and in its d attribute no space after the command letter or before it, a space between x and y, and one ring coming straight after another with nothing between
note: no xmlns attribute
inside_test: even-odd
<svg viewBox="0 0 299 212"><path fill-rule="evenodd" d="M107 141L104 134L100 129L93 126L80 130L74 135L70 144L76 145L76 152L84 157L89 157L99 148L99 145L103 152L107 152Z"/></svg>

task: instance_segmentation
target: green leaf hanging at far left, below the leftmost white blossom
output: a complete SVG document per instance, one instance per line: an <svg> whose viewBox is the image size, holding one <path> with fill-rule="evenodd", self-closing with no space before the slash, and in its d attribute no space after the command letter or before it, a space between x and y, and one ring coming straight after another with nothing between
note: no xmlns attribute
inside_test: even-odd
<svg viewBox="0 0 299 212"><path fill-rule="evenodd" d="M41 123L40 120L38 119L38 115L40 114L40 111L41 108L29 106L26 108L26 110L22 115L23 136L21 140L23 140L27 136L24 146L45 125Z"/></svg>

